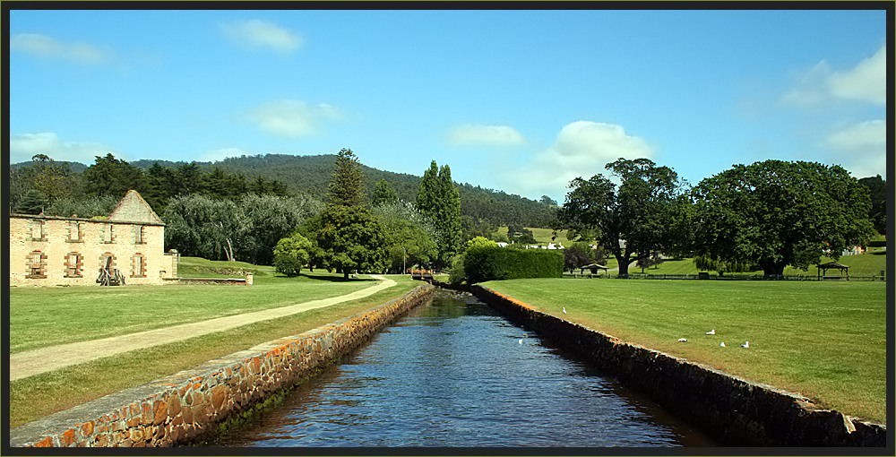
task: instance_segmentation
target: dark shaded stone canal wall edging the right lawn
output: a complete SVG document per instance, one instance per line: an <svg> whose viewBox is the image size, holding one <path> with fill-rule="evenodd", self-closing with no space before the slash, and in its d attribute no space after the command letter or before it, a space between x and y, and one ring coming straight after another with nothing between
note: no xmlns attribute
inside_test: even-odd
<svg viewBox="0 0 896 457"><path fill-rule="evenodd" d="M620 341L482 286L461 289L564 349L588 358L724 444L887 445L886 426L850 418L836 410L819 409L798 394Z"/></svg>

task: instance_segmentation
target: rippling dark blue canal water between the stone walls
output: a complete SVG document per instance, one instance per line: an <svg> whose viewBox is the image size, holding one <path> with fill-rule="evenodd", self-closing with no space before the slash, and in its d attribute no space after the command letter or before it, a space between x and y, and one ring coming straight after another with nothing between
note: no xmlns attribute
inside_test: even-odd
<svg viewBox="0 0 896 457"><path fill-rule="evenodd" d="M475 297L440 291L211 445L715 444Z"/></svg>

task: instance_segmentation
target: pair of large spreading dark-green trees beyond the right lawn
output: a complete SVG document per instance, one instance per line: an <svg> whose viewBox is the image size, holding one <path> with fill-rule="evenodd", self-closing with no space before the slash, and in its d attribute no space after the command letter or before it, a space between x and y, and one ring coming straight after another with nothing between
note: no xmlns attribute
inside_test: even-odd
<svg viewBox="0 0 896 457"><path fill-rule="evenodd" d="M807 270L822 255L838 258L875 235L870 186L839 166L766 160L737 165L691 187L651 160L607 164L613 180L578 177L557 213L556 229L589 234L616 257L619 273L661 252L696 256L698 267L780 276L787 265ZM883 198L885 203L885 197ZM567 265L568 266L568 265Z"/></svg>

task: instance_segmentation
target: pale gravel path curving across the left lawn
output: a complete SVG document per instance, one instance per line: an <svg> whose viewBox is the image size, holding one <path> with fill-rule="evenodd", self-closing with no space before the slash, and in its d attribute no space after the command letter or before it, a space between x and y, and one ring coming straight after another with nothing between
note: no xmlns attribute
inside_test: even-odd
<svg viewBox="0 0 896 457"><path fill-rule="evenodd" d="M197 323L184 323L146 332L103 338L101 340L80 341L18 352L10 356L10 381L39 375L65 366L81 364L97 358L113 356L122 352L182 341L213 332L223 332L249 323L295 315L310 309L357 300L358 298L369 297L380 290L388 289L395 285L394 280L376 275L371 275L371 277L380 281L374 286L339 297L323 298L296 305L255 311L244 315L218 317Z"/></svg>

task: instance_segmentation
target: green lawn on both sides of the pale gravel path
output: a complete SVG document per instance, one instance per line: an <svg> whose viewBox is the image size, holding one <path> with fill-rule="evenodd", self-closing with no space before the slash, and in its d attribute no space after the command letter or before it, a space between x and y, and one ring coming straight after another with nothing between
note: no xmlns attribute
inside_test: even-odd
<svg viewBox="0 0 896 457"><path fill-rule="evenodd" d="M9 427L17 427L109 393L172 375L212 358L335 322L400 297L420 284L420 281L410 280L406 275L389 275L388 278L395 280L397 285L370 297L13 381L9 389ZM256 282L250 287L12 288L10 340L11 343L16 341L18 350L24 350L103 338L246 310L333 297L373 284L364 280L346 282L341 280L341 275L326 273L302 278L277 278L271 274L268 280ZM96 306L97 301L103 304ZM154 312L144 311L143 308ZM29 314L38 316L32 319ZM73 330L75 328L80 330ZM79 332L85 334L79 335ZM63 333L64 336L56 333Z"/></svg>

